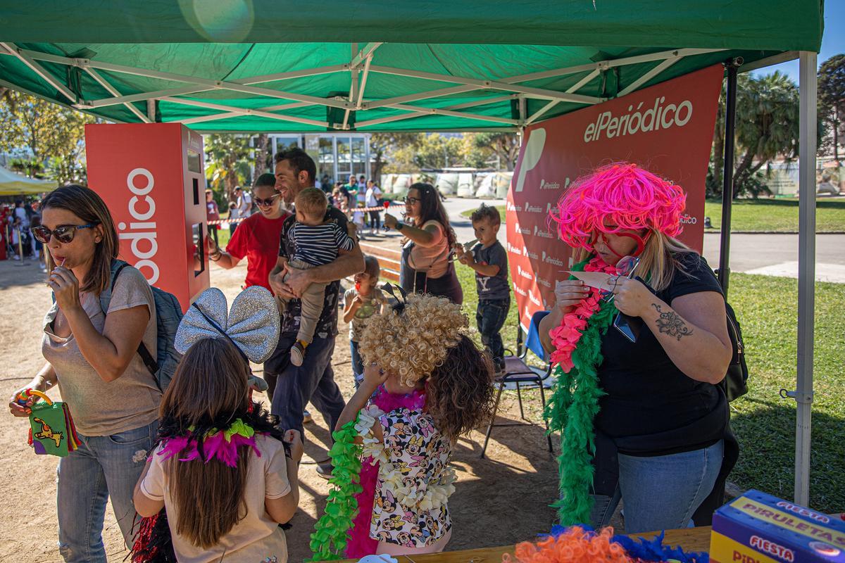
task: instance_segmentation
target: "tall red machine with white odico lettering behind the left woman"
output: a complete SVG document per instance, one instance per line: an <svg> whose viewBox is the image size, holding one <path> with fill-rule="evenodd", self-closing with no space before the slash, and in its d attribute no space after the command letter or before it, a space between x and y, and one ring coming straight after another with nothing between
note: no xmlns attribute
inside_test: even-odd
<svg viewBox="0 0 845 563"><path fill-rule="evenodd" d="M209 287L202 136L180 123L86 125L85 151L120 257L187 311Z"/></svg>

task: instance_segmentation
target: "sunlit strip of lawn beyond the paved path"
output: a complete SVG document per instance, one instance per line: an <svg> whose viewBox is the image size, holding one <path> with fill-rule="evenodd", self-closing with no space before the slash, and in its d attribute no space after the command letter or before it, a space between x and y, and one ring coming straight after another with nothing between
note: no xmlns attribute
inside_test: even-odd
<svg viewBox="0 0 845 563"><path fill-rule="evenodd" d="M497 206L504 221L504 206ZM469 217L472 209L461 213ZM708 200L704 214L710 217L713 229L722 225L722 202ZM733 202L731 230L744 232L798 232L798 199L739 199ZM845 232L845 199L816 202L815 231L818 233Z"/></svg>

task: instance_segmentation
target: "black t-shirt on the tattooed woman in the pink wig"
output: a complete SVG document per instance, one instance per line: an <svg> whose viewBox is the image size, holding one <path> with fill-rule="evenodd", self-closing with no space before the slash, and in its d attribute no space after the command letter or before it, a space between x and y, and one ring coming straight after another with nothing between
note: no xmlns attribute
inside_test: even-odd
<svg viewBox="0 0 845 563"><path fill-rule="evenodd" d="M672 305L681 295L701 291L722 294L704 257L679 256L685 270L676 271L657 296ZM599 384L596 427L613 438L619 452L653 456L689 452L710 446L724 434L728 402L717 386L684 375L669 359L644 323L636 343L611 327L602 338L604 360Z"/></svg>

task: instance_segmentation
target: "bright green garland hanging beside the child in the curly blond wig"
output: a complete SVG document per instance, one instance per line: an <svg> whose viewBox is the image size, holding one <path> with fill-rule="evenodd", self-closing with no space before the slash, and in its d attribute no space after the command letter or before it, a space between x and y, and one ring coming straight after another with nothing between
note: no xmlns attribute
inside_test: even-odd
<svg viewBox="0 0 845 563"><path fill-rule="evenodd" d="M331 436L335 438L335 445L329 451L331 464L334 467L329 483L335 488L329 491L329 498L325 505L325 513L314 525L311 534L311 551L313 557L308 561L327 561L345 559L346 541L349 539L349 529L352 519L358 512L355 495L361 492L359 485L361 474L362 447L355 443L358 436L355 420L341 426Z"/></svg>

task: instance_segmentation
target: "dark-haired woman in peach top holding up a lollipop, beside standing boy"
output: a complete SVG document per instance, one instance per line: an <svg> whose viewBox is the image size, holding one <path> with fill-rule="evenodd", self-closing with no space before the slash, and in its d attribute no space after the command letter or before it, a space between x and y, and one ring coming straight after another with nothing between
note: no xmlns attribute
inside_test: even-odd
<svg viewBox="0 0 845 563"><path fill-rule="evenodd" d="M461 305L464 292L450 261L455 231L437 188L423 182L413 184L405 198L405 217L407 224L384 214L384 227L398 230L408 240L402 248L402 289L446 297Z"/></svg>

